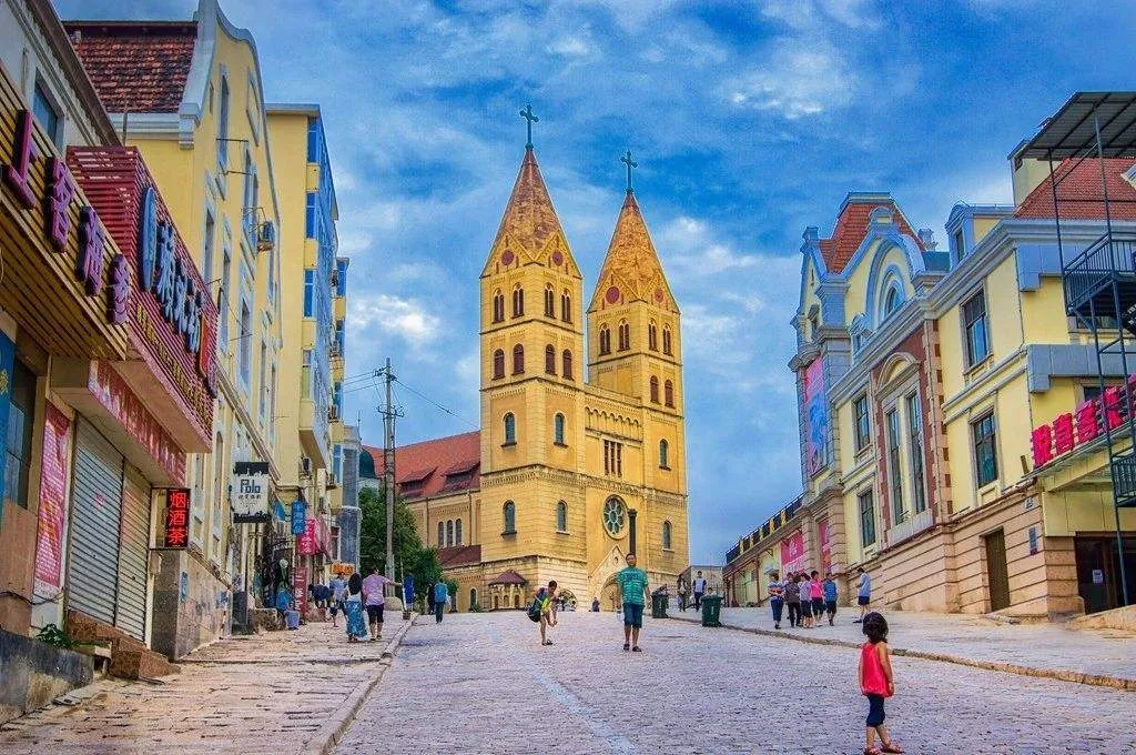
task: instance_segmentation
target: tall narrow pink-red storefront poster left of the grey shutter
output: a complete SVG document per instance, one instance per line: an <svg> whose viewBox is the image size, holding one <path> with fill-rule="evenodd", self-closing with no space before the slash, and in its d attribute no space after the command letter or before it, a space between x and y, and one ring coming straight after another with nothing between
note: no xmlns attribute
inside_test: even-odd
<svg viewBox="0 0 1136 755"><path fill-rule="evenodd" d="M44 404L43 458L40 465L40 513L35 541L35 594L53 598L62 582L64 517L67 506L67 454L70 420L55 404Z"/></svg>

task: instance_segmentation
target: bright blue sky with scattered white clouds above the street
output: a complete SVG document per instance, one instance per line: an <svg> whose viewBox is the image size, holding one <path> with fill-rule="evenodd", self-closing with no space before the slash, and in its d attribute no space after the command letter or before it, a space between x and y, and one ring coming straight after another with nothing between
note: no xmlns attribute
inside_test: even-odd
<svg viewBox="0 0 1136 755"><path fill-rule="evenodd" d="M478 417L477 279L524 154L591 298L636 196L682 309L691 558L721 563L801 490L787 362L801 234L889 191L945 248L1011 201L1006 155L1077 90L1133 89L1136 3L955 0L223 0L266 98L321 107L349 275L346 375L390 356L400 445ZM56 0L185 19L193 0ZM377 384L345 415L382 445ZM445 407L442 410L441 407Z"/></svg>

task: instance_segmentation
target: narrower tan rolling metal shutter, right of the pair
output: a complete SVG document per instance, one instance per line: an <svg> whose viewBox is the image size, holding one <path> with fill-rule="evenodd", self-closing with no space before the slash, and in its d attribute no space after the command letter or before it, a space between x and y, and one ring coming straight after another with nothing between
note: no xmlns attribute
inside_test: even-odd
<svg viewBox="0 0 1136 755"><path fill-rule="evenodd" d="M144 641L150 551L150 482L128 464L124 478L115 627Z"/></svg>

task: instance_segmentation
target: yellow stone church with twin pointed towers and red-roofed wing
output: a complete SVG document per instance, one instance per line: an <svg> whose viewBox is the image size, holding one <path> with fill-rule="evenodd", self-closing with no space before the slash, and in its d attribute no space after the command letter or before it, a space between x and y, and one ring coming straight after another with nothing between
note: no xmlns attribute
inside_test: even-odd
<svg viewBox="0 0 1136 755"><path fill-rule="evenodd" d="M679 312L624 163L585 312L529 139L481 275L482 429L395 451L399 496L458 581L459 611L519 608L549 580L608 611L626 554L652 590L674 591L687 565ZM366 450L362 476L381 479L382 449Z"/></svg>

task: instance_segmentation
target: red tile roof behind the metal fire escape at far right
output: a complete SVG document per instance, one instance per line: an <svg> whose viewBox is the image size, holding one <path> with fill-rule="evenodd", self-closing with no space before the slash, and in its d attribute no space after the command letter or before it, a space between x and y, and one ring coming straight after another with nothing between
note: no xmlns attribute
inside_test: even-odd
<svg viewBox="0 0 1136 755"><path fill-rule="evenodd" d="M1058 176L1058 209L1061 210L1061 218L1104 219L1104 191L1101 189L1100 161L1088 159L1076 167L1072 165L1072 160L1064 160L1054 171ZM1104 160L1104 181L1109 189L1109 210L1113 219L1136 221L1136 186L1124 176L1130 167L1133 167L1131 158ZM1050 176L1045 176L1045 180L1018 205L1018 209L1013 211L1014 217L1052 218L1051 184Z"/></svg>

